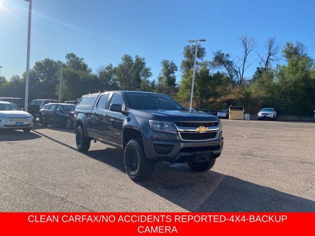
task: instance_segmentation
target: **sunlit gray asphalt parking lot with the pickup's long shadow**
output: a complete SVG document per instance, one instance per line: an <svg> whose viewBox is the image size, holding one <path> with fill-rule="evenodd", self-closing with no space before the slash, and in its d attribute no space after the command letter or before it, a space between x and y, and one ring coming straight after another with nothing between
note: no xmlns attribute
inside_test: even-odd
<svg viewBox="0 0 315 236"><path fill-rule="evenodd" d="M123 152L76 150L61 126L0 133L0 211L315 211L315 123L222 120L205 173L159 163L132 182Z"/></svg>

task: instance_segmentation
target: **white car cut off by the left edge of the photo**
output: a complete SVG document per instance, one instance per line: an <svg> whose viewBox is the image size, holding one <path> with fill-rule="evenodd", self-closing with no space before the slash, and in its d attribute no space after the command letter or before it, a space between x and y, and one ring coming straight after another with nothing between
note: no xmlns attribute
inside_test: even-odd
<svg viewBox="0 0 315 236"><path fill-rule="evenodd" d="M34 126L34 118L30 113L21 111L10 102L0 102L0 130L22 129L30 132Z"/></svg>

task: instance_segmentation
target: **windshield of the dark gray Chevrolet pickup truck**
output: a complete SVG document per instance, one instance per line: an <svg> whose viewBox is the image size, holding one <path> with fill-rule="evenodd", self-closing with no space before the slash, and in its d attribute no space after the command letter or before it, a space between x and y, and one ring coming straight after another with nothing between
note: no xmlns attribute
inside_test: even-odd
<svg viewBox="0 0 315 236"><path fill-rule="evenodd" d="M128 103L137 110L185 110L166 95L142 92L126 92Z"/></svg>

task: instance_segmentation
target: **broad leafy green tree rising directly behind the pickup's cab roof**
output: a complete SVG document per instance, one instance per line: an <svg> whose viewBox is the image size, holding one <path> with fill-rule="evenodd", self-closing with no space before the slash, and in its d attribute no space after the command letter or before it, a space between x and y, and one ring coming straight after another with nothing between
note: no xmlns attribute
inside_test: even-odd
<svg viewBox="0 0 315 236"><path fill-rule="evenodd" d="M152 76L151 68L146 66L144 58L124 55L116 68L117 81L124 90L139 90L141 82Z"/></svg>

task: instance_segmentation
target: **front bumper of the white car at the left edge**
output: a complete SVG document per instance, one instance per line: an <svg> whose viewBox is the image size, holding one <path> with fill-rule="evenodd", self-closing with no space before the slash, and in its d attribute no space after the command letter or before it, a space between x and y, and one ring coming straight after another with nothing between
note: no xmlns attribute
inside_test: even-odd
<svg viewBox="0 0 315 236"><path fill-rule="evenodd" d="M0 129L25 129L33 128L34 118L3 118L0 117Z"/></svg>

